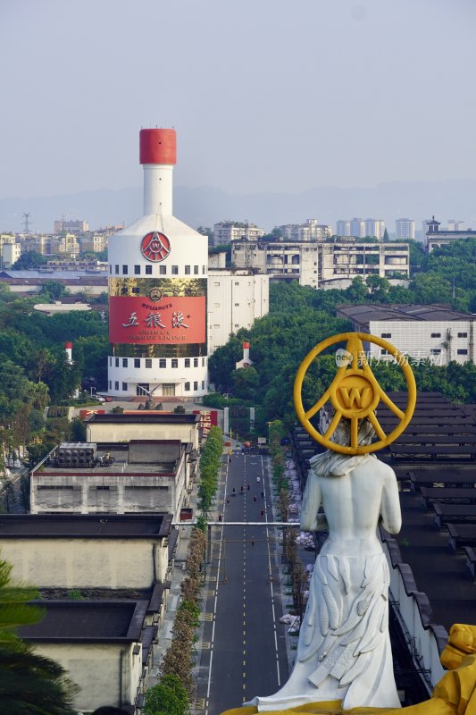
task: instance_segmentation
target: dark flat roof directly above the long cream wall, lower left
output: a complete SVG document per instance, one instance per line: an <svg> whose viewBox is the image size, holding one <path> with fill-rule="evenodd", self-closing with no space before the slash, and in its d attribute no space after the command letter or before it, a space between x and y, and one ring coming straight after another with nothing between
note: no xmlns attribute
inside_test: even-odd
<svg viewBox="0 0 476 715"><path fill-rule="evenodd" d="M8 538L151 539L171 532L171 514L2 514Z"/></svg>

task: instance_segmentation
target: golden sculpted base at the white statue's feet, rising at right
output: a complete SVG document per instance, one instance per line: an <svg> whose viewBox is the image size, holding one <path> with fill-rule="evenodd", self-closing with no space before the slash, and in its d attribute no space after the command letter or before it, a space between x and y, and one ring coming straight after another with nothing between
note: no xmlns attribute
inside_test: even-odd
<svg viewBox="0 0 476 715"><path fill-rule="evenodd" d="M475 715L476 713L476 627L456 624L450 630L441 663L448 672L441 678L429 700L406 708L356 707L341 710L341 701L308 702L296 708L267 712L270 715ZM221 715L255 715L258 708L245 705Z"/></svg>

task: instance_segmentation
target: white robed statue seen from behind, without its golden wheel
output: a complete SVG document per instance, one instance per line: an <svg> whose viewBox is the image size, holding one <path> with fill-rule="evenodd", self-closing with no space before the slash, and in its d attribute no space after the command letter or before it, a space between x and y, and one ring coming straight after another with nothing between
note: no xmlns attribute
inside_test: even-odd
<svg viewBox="0 0 476 715"><path fill-rule="evenodd" d="M358 442L372 442L373 427L360 423ZM342 419L333 440L349 444ZM377 526L397 534L401 526L397 478L373 455L330 450L311 459L301 528L329 537L318 554L299 634L296 665L278 693L256 696L258 711L308 702L342 701L354 707L400 707L388 635L388 564Z"/></svg>

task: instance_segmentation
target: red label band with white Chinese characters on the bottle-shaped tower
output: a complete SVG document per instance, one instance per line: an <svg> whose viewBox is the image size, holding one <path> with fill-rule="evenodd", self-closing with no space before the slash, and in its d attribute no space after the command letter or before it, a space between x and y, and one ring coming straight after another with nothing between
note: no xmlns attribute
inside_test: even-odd
<svg viewBox="0 0 476 715"><path fill-rule="evenodd" d="M109 299L109 341L156 344L206 341L205 296L163 298L113 296Z"/></svg>

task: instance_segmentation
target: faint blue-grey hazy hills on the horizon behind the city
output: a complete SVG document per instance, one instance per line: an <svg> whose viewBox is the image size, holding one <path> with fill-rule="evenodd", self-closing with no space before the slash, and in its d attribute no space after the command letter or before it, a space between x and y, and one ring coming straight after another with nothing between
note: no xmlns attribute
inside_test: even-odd
<svg viewBox="0 0 476 715"><path fill-rule="evenodd" d="M393 181L373 187L321 187L299 193L229 194L214 187L174 189L174 214L185 223L213 226L223 219L250 221L270 231L280 223L303 223L318 218L335 223L339 218L361 216L383 218L388 231L395 219L413 218L415 229L422 219L435 214L443 224L447 219L466 221L476 228L476 181ZM21 231L23 212L30 213L32 231L53 231L62 214L88 221L91 228L128 225L142 214L142 188L98 189L54 197L0 199L0 231Z"/></svg>

